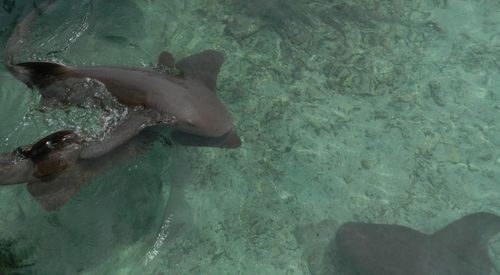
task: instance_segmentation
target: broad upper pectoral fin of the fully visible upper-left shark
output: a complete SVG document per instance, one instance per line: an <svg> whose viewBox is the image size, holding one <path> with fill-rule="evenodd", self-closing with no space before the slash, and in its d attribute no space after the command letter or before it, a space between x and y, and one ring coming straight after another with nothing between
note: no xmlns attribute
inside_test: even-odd
<svg viewBox="0 0 500 275"><path fill-rule="evenodd" d="M207 88L215 91L217 75L223 63L224 55L221 52L206 50L182 59L175 66L186 76L200 80Z"/></svg>

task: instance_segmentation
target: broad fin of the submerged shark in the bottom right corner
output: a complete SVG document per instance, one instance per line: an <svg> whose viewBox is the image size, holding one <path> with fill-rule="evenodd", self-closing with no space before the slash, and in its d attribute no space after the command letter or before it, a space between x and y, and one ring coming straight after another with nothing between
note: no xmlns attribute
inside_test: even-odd
<svg viewBox="0 0 500 275"><path fill-rule="evenodd" d="M500 217L479 212L448 224L431 238L439 246L449 248L463 261L478 269L485 269L486 274L491 268L488 241L499 232Z"/></svg>

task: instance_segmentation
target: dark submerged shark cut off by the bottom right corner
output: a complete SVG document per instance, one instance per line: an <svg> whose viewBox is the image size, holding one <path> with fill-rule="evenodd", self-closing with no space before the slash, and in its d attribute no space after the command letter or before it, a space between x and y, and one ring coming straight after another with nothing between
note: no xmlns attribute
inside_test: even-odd
<svg viewBox="0 0 500 275"><path fill-rule="evenodd" d="M349 222L336 234L341 258L360 275L487 275L487 243L500 217L465 216L432 235L389 224Z"/></svg>

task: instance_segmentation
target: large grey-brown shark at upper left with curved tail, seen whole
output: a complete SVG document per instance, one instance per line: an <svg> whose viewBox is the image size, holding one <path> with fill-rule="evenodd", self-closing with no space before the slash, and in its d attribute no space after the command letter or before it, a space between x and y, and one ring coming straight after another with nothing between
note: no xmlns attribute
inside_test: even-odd
<svg viewBox="0 0 500 275"><path fill-rule="evenodd" d="M15 78L38 89L42 105L78 106L89 99L106 105L104 100L95 98L94 89L88 88L97 85L126 106L130 112L110 129L113 139L102 140L97 151L105 154L103 147L112 150L142 129L157 124L168 126L173 141L182 145L220 148L241 145L231 115L216 94L217 76L224 63L220 51L205 50L179 61L171 53L162 52L158 66L153 69L17 62L17 52L29 40L30 26L54 2L47 0L36 6L16 26L5 46L4 63ZM82 155L98 156L92 150Z"/></svg>

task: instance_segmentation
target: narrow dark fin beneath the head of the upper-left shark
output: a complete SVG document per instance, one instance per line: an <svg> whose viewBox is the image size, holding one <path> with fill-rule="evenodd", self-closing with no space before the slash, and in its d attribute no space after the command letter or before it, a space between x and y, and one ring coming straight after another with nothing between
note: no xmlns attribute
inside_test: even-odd
<svg viewBox="0 0 500 275"><path fill-rule="evenodd" d="M241 139L234 130L230 130L220 137L203 137L179 131L172 132L172 140L186 146L238 148L241 146Z"/></svg>

